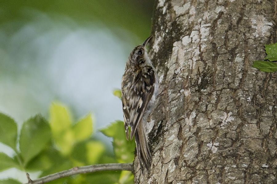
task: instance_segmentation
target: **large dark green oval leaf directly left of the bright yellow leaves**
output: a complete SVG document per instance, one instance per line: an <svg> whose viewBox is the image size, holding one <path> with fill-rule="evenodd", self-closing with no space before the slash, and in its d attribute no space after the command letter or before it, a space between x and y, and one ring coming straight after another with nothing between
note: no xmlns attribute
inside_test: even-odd
<svg viewBox="0 0 277 184"><path fill-rule="evenodd" d="M49 124L41 115L36 115L23 123L19 147L24 165L45 148L50 138Z"/></svg>

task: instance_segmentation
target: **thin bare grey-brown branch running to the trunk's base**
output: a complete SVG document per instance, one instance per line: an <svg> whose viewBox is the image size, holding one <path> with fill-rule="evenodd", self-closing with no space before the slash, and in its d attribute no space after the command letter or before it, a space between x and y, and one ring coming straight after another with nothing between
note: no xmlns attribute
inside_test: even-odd
<svg viewBox="0 0 277 184"><path fill-rule="evenodd" d="M29 180L29 182L26 184L42 184L42 183L53 181L55 179L72 176L75 174L93 173L97 171L116 171L116 170L133 172L133 164L132 163L108 163L108 164L98 164L98 165L90 165L90 166L84 166L84 167L73 167L72 169L61 171L55 174L50 174L42 178L35 179L33 181Z"/></svg>

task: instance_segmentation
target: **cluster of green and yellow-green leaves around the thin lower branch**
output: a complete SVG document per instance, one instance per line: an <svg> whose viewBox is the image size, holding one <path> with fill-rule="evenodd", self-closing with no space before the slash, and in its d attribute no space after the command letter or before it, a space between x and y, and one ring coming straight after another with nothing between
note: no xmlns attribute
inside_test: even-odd
<svg viewBox="0 0 277 184"><path fill-rule="evenodd" d="M41 115L31 117L23 123L17 145L15 121L0 113L0 142L14 150L10 157L0 153L0 171L18 168L22 171L42 171L39 177L55 172L101 163L130 163L134 160L135 143L127 141L122 121L115 121L101 130L113 138L115 155L106 151L106 146L93 137L91 113L74 123L70 110L59 102L50 106L47 121ZM5 132L6 131L6 132ZM19 183L16 180L0 180L1 183ZM132 184L130 171L102 171L61 178L49 183L106 183Z"/></svg>

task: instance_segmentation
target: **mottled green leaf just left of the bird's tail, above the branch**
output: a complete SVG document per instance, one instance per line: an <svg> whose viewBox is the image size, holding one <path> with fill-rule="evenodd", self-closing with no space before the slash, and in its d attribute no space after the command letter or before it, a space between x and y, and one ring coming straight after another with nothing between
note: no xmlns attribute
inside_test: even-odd
<svg viewBox="0 0 277 184"><path fill-rule="evenodd" d="M101 130L103 134L113 138L113 148L119 163L130 163L134 160L135 142L126 140L123 121L115 121Z"/></svg>

